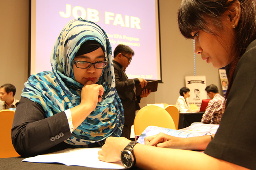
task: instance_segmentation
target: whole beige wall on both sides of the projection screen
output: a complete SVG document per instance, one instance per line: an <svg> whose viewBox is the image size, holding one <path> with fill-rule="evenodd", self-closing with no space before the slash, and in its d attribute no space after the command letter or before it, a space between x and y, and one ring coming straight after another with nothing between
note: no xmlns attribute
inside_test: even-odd
<svg viewBox="0 0 256 170"><path fill-rule="evenodd" d="M194 75L193 41L182 37L177 25L177 9L181 0L159 0L162 81L158 91L141 100L147 103L175 104L179 90L185 86L185 76ZM0 85L16 86L16 98L27 80L29 51L29 0L1 0L0 5ZM206 76L206 85L221 89L218 69L196 56L196 75ZM222 94L222 93L221 93Z"/></svg>

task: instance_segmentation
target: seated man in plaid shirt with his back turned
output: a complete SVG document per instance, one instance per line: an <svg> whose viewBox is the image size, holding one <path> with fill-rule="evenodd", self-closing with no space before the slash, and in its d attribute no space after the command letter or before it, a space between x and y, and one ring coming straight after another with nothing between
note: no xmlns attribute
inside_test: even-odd
<svg viewBox="0 0 256 170"><path fill-rule="evenodd" d="M219 94L218 87L211 84L205 88L207 95L211 99L208 103L206 110L201 120L202 123L219 124L223 112L225 110L224 100L225 98Z"/></svg>

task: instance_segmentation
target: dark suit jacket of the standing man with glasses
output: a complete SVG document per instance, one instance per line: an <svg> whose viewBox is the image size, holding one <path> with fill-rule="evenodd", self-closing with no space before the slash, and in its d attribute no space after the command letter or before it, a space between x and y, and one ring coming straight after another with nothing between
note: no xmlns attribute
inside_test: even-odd
<svg viewBox="0 0 256 170"><path fill-rule="evenodd" d="M124 125L133 125L135 111L139 110L140 96L136 96L134 88L138 85L139 79L128 79L123 71L123 66L114 61L114 73L116 90L124 107Z"/></svg>

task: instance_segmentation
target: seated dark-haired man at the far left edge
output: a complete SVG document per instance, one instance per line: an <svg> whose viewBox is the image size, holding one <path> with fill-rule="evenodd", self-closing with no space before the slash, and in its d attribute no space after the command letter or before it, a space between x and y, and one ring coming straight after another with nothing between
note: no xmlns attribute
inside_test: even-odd
<svg viewBox="0 0 256 170"><path fill-rule="evenodd" d="M16 108L16 103L19 100L14 98L16 88L12 84L4 84L0 87L0 110Z"/></svg>

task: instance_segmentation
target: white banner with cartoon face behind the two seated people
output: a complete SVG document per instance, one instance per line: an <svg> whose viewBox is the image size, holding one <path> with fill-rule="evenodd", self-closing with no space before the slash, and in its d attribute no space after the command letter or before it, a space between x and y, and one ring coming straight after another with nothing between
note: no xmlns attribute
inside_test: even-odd
<svg viewBox="0 0 256 170"><path fill-rule="evenodd" d="M186 87L190 90L189 104L200 108L202 99L207 99L206 76L185 76Z"/></svg>

